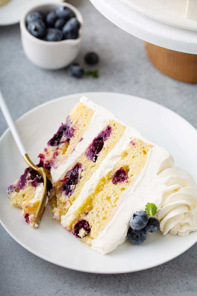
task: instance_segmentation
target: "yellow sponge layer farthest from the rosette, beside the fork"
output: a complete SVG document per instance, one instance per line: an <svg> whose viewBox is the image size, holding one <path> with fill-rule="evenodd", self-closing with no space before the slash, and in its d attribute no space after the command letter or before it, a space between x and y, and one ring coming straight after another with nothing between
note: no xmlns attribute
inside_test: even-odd
<svg viewBox="0 0 197 296"><path fill-rule="evenodd" d="M69 121L71 127L74 128L74 135L69 141L59 144L57 146L47 146L41 153L44 155L43 162L53 161L53 165L58 167L61 160L65 159L69 154L72 153L73 148L82 139L92 117L94 115L94 110L87 107L83 103L79 102L75 105L74 109L69 114ZM57 155L56 155L57 154ZM47 172L48 178L51 180L49 172Z"/></svg>

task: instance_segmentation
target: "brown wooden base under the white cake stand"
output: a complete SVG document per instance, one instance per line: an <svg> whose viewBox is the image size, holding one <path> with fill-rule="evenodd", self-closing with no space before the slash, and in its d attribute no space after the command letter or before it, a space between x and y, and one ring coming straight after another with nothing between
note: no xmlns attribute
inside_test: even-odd
<svg viewBox="0 0 197 296"><path fill-rule="evenodd" d="M197 54L186 54L145 42L147 56L162 73L189 83L197 83Z"/></svg>

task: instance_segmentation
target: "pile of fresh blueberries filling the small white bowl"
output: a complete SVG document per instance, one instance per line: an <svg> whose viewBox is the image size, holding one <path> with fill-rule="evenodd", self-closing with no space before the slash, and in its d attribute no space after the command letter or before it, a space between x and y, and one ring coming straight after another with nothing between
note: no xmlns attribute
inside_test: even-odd
<svg viewBox="0 0 197 296"><path fill-rule="evenodd" d="M74 12L66 6L60 6L47 14L39 11L31 12L26 17L26 25L30 34L44 41L79 37L80 23Z"/></svg>

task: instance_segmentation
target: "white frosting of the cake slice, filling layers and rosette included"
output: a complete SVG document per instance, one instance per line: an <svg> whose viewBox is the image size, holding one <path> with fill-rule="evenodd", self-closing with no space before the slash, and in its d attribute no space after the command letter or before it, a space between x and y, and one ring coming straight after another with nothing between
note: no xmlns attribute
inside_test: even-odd
<svg viewBox="0 0 197 296"><path fill-rule="evenodd" d="M89 106L93 104L84 98L81 101ZM111 112L107 112L105 109L105 112L97 112L97 108L100 107L95 104L94 107L96 112L92 122L96 122L99 128L94 133L95 126L91 126L92 123L90 123L90 127L84 135L86 140L80 145L77 154L71 157L72 161L84 153L89 146L91 140L88 134L91 133L93 140L102 130L105 125L105 116L108 116L108 120L110 116L111 119L115 118ZM163 234L170 231L171 234L187 235L190 231L197 229L197 189L193 178L184 170L174 168L174 160L167 150L149 142L138 131L129 126L126 126L121 140L110 151L89 181L86 182L78 199L69 208L66 215L61 216L61 225L66 227L73 221L77 208L95 191L100 178L111 171L115 164L121 160L121 152L126 148L131 138L135 137L152 144L153 147L149 151L146 165L135 184L123 191L113 218L99 233L98 237L92 240L92 248L101 254L115 250L118 245L126 240L129 219L136 211L144 210L147 202L154 203L157 206L157 215L161 221L160 229ZM64 168L67 169L70 165L71 161L69 161L69 165L65 163ZM62 171L57 174L59 177Z"/></svg>

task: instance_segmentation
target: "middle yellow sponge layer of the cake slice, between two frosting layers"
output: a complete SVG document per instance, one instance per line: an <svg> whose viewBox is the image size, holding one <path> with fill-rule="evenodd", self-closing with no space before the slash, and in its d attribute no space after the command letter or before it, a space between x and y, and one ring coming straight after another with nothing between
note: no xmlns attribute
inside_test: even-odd
<svg viewBox="0 0 197 296"><path fill-rule="evenodd" d="M120 141L126 128L121 123L118 123L115 120L110 120L106 127L107 126L110 126L112 128L112 132L109 138L104 142L104 146L100 151L96 162L89 160L86 157L86 152L84 152L84 154L82 154L82 156L79 157L79 159L77 160L77 163L82 164L82 173L80 176L80 181L78 184L76 184L74 192L71 194L71 196L65 196L64 193L62 193L62 181L58 181L54 184L56 189L57 206L53 209L53 213L56 219L60 220L61 215L65 215L67 213L69 207L79 197L84 184L91 178L92 174L99 168L100 164L108 155L108 153ZM106 127L104 127L103 129L105 129ZM72 166L73 165L74 163L72 164Z"/></svg>

